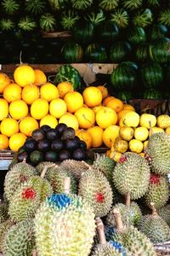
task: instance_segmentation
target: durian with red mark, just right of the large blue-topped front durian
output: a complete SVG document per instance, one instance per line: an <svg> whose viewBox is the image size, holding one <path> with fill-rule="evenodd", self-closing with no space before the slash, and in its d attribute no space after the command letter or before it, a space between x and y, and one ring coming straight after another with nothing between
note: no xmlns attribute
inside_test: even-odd
<svg viewBox="0 0 170 256"><path fill-rule="evenodd" d="M86 199L94 207L96 217L105 216L110 210L113 200L111 185L102 172L89 168L79 181L78 195Z"/></svg>

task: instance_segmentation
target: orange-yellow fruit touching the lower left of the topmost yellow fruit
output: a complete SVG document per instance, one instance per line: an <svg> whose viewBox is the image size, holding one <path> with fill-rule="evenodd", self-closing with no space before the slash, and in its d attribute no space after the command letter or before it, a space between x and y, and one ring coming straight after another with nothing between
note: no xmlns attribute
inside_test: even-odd
<svg viewBox="0 0 170 256"><path fill-rule="evenodd" d="M22 88L18 84L8 84L3 90L3 98L7 102L13 102L21 99Z"/></svg>

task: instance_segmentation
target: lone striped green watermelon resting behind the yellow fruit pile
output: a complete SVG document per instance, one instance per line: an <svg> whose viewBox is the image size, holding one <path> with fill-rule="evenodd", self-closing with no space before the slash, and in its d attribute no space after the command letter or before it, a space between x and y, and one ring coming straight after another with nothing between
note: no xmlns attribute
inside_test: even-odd
<svg viewBox="0 0 170 256"><path fill-rule="evenodd" d="M73 88L79 89L81 87L82 77L75 67L69 64L64 64L59 67L54 78L54 84L68 81L73 85Z"/></svg>

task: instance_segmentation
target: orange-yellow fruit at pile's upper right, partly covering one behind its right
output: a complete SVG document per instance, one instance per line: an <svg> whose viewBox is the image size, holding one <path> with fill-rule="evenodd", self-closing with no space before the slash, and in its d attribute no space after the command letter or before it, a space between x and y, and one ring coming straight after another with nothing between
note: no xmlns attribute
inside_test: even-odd
<svg viewBox="0 0 170 256"><path fill-rule="evenodd" d="M102 102L102 93L99 88L95 86L85 88L82 92L82 96L84 103L90 108L98 106Z"/></svg>

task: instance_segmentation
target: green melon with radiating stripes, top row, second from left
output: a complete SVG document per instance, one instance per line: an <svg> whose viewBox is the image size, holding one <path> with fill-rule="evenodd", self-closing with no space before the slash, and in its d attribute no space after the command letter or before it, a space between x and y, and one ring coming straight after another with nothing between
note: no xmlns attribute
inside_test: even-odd
<svg viewBox="0 0 170 256"><path fill-rule="evenodd" d="M41 15L45 8L46 8L46 1L45 0L26 0L26 11L29 12L31 15Z"/></svg>

